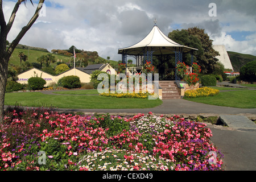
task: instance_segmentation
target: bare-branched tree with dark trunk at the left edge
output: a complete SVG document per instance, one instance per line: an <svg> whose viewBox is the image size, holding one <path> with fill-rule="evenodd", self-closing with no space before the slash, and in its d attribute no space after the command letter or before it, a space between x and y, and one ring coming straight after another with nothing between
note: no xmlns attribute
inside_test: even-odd
<svg viewBox="0 0 256 182"><path fill-rule="evenodd" d="M16 13L19 9L21 3L24 2L26 5L26 0L18 0L14 6L14 9L11 13L9 22L6 23L5 15L3 14L3 1L0 0L0 122L3 122L4 106L5 106L5 89L6 82L8 77L8 63L10 56L13 53L15 47L18 45L20 40L26 34L26 32L31 28L38 19L39 11L42 9L44 0L40 0L38 6L36 7L35 13L32 18L29 20L26 26L20 30L16 38L11 42L10 46L7 48L7 35L9 34L11 27L13 26ZM30 0L32 3L32 0ZM33 3L32 3L33 5Z"/></svg>

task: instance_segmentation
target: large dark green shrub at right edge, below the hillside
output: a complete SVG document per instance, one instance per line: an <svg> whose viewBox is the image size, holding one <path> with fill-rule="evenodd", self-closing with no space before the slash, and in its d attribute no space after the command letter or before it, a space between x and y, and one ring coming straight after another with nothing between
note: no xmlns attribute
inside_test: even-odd
<svg viewBox="0 0 256 182"><path fill-rule="evenodd" d="M256 81L256 61L250 61L240 69L241 80Z"/></svg>

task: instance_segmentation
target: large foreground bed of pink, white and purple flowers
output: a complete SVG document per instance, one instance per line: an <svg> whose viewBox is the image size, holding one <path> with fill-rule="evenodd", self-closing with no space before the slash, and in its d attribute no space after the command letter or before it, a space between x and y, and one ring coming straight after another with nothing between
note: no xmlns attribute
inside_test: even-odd
<svg viewBox="0 0 256 182"><path fill-rule="evenodd" d="M0 127L0 168L221 170L222 154L210 143L212 132L205 126L178 115L122 118L9 109ZM210 151L218 154L214 164Z"/></svg>

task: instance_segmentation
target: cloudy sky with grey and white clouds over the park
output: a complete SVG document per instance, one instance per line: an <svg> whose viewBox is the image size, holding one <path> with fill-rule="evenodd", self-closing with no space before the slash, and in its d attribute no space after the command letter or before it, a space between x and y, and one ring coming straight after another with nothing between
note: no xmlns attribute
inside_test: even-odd
<svg viewBox="0 0 256 182"><path fill-rule="evenodd" d="M6 22L16 1L3 0ZM20 5L7 36L9 42L34 15L39 1L32 2L34 6L29 0L26 6ZM118 61L118 49L140 42L156 19L167 36L173 30L197 26L214 45L256 56L255 9L255 0L46 0L20 44L48 51L75 46Z"/></svg>

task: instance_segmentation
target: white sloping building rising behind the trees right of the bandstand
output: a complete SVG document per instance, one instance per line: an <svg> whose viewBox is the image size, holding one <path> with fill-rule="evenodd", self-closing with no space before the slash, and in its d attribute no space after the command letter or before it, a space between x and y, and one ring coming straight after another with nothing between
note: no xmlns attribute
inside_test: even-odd
<svg viewBox="0 0 256 182"><path fill-rule="evenodd" d="M231 69L232 71L234 71L234 69L232 67L232 63L229 59L228 52L226 52L225 46L213 45L212 48L215 51L218 51L220 53L220 56L216 56L216 58L218 59L218 61L220 61L220 63L222 63L224 65L224 68L225 69Z"/></svg>

